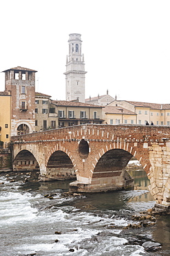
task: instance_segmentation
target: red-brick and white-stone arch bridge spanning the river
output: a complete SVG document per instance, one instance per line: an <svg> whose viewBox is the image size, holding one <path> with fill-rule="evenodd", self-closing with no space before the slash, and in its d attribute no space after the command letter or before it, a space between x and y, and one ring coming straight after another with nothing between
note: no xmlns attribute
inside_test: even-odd
<svg viewBox="0 0 170 256"><path fill-rule="evenodd" d="M170 127L87 124L12 136L13 170L38 168L43 181L76 176L77 192L128 188L132 156L156 202L170 205Z"/></svg>

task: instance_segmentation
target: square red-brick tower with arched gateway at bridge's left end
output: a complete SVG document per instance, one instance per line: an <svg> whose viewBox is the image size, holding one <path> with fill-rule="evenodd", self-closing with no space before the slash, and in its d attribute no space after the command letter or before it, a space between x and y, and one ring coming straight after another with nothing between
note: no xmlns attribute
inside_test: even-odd
<svg viewBox="0 0 170 256"><path fill-rule="evenodd" d="M35 73L29 68L10 68L6 74L5 91L11 95L11 136L35 131Z"/></svg>

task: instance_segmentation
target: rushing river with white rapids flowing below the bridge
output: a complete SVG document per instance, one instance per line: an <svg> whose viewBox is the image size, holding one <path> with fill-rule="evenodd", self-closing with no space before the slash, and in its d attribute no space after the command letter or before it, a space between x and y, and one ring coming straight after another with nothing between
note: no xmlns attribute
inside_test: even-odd
<svg viewBox="0 0 170 256"><path fill-rule="evenodd" d="M125 229L136 222L132 215L155 204L145 172L131 175L135 190L63 196L70 181L43 183L33 172L1 173L0 255L170 255L169 216L156 217L147 228ZM161 248L147 252L145 241Z"/></svg>

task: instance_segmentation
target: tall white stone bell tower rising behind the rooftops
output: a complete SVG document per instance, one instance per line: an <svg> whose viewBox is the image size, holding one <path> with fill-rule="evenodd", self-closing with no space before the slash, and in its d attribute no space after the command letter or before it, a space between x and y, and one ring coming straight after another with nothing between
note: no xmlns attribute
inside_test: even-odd
<svg viewBox="0 0 170 256"><path fill-rule="evenodd" d="M70 34L69 55L66 60L66 100L85 102L85 62L81 55L81 35Z"/></svg>

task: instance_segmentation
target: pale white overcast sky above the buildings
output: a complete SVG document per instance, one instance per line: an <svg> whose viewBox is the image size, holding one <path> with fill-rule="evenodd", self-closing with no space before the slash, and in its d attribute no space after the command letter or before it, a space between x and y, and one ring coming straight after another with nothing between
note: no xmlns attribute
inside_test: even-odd
<svg viewBox="0 0 170 256"><path fill-rule="evenodd" d="M1 1L0 71L34 69L36 91L65 100L67 41L80 33L86 98L108 89L118 100L170 103L169 14L169 0Z"/></svg>

